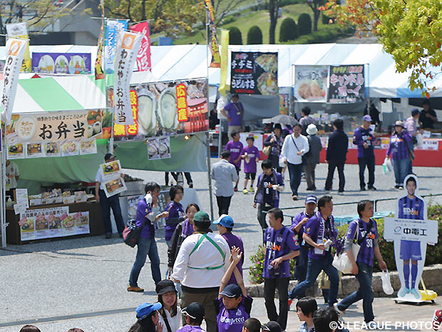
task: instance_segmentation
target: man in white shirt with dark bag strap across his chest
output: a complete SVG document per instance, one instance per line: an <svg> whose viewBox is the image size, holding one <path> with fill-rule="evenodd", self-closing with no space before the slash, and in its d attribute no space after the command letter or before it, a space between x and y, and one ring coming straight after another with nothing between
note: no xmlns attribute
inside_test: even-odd
<svg viewBox="0 0 442 332"><path fill-rule="evenodd" d="M292 188L292 198L298 199L298 188L301 184L302 156L309 152L309 141L306 136L301 135L301 125L295 124L293 134L285 136L282 144L281 155L284 163L289 168L290 188Z"/></svg>

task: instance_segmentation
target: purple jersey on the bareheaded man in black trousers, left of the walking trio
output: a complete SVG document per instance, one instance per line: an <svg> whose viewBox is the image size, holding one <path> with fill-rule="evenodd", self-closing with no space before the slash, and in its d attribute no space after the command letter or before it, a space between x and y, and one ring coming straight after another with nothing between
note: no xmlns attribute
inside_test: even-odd
<svg viewBox="0 0 442 332"><path fill-rule="evenodd" d="M282 226L277 231L269 227L264 233L265 259L262 267L264 278L289 278L290 260L282 261L277 268L270 268L270 263L275 259L287 255L290 251L299 250L296 236L289 228Z"/></svg>

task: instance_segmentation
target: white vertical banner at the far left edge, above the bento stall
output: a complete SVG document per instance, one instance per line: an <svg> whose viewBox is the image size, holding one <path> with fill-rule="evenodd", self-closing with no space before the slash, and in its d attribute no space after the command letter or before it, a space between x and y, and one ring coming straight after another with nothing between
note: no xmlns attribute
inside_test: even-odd
<svg viewBox="0 0 442 332"><path fill-rule="evenodd" d="M7 53L4 67L3 96L1 96L1 108L6 116L6 121L11 120L26 42L24 39L15 38L9 38L6 41Z"/></svg>

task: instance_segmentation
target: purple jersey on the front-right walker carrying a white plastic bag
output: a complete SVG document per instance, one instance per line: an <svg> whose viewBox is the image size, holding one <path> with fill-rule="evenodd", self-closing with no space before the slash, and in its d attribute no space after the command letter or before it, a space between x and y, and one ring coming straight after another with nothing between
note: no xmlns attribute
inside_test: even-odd
<svg viewBox="0 0 442 332"><path fill-rule="evenodd" d="M368 232L364 241L359 243L361 248L359 249L358 258L356 258L356 262L366 263L369 266L373 266L373 258L374 258L374 239L378 238L378 226L376 221L373 221L373 226L369 228L369 223L366 223L361 218L358 220L351 221L349 224L349 229L347 231L347 238L349 240L354 240L356 236L356 231L358 231L358 243L361 238Z"/></svg>

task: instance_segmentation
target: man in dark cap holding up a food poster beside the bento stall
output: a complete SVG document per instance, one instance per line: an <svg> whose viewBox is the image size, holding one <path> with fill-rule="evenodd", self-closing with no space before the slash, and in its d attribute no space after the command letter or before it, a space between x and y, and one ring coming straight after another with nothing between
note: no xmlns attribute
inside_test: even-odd
<svg viewBox="0 0 442 332"><path fill-rule="evenodd" d="M115 161L115 156L113 154L106 154L104 156L104 161L105 163ZM112 238L111 208L118 233L120 234L120 237L122 237L124 231L124 221L123 216L121 215L120 198L118 197L118 193L106 197L103 176L103 170L100 167L98 168L97 175L95 177L95 198L101 204L101 213L103 215L106 238ZM123 174L121 174L121 176L123 177Z"/></svg>

